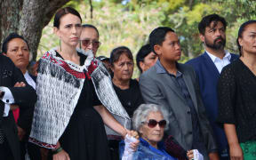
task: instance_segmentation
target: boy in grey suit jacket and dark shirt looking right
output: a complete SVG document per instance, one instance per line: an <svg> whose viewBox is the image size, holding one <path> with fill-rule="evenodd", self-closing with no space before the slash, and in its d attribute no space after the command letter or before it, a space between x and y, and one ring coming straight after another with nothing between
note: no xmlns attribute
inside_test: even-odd
<svg viewBox="0 0 256 160"><path fill-rule="evenodd" d="M204 113L193 68L180 64L181 49L172 28L156 28L149 36L156 65L140 76L140 90L147 103L167 108L170 134L186 150L198 149L204 159L218 159L212 128Z"/></svg>

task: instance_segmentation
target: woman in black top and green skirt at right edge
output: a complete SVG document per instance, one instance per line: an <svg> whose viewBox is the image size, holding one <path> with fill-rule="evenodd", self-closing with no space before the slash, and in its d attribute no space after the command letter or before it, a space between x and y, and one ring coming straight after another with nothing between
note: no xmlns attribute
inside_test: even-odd
<svg viewBox="0 0 256 160"><path fill-rule="evenodd" d="M231 159L255 159L256 153L256 20L238 31L240 58L220 74L219 116Z"/></svg>

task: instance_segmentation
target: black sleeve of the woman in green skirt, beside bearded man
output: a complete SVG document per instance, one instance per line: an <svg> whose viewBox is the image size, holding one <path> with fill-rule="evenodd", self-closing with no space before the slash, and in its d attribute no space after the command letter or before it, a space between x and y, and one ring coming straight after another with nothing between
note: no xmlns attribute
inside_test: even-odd
<svg viewBox="0 0 256 160"><path fill-rule="evenodd" d="M227 68L228 67L228 68ZM232 68L223 68L218 82L218 118L220 124L236 124L236 76Z"/></svg>

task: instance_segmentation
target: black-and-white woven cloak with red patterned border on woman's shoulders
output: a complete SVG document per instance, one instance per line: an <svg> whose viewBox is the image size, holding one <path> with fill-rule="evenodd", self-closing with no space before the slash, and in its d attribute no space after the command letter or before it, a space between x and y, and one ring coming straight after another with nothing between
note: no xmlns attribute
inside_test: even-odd
<svg viewBox="0 0 256 160"><path fill-rule="evenodd" d="M40 59L29 141L41 147L56 147L76 108L86 76L92 78L98 98L108 111L120 117L124 127L131 127L131 119L116 96L107 69L100 60L93 58L92 51L76 50L87 56L83 66L57 57L56 49L44 53Z"/></svg>

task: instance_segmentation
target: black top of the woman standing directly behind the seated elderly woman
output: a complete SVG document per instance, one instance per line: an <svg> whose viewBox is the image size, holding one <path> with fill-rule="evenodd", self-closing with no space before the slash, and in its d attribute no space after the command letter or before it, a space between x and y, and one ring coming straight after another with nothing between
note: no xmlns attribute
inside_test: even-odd
<svg viewBox="0 0 256 160"><path fill-rule="evenodd" d="M121 101L128 115L132 117L134 110L138 108L140 104L144 103L139 83L131 79L130 86L126 90L120 89L115 84L113 84L113 86L118 99Z"/></svg>

